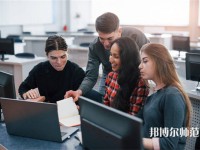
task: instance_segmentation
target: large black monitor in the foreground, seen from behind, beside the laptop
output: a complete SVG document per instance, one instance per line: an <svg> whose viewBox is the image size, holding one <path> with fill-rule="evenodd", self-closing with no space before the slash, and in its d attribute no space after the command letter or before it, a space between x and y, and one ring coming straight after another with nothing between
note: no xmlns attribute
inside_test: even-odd
<svg viewBox="0 0 200 150"><path fill-rule="evenodd" d="M143 149L142 120L79 97L82 144L86 149Z"/></svg>

